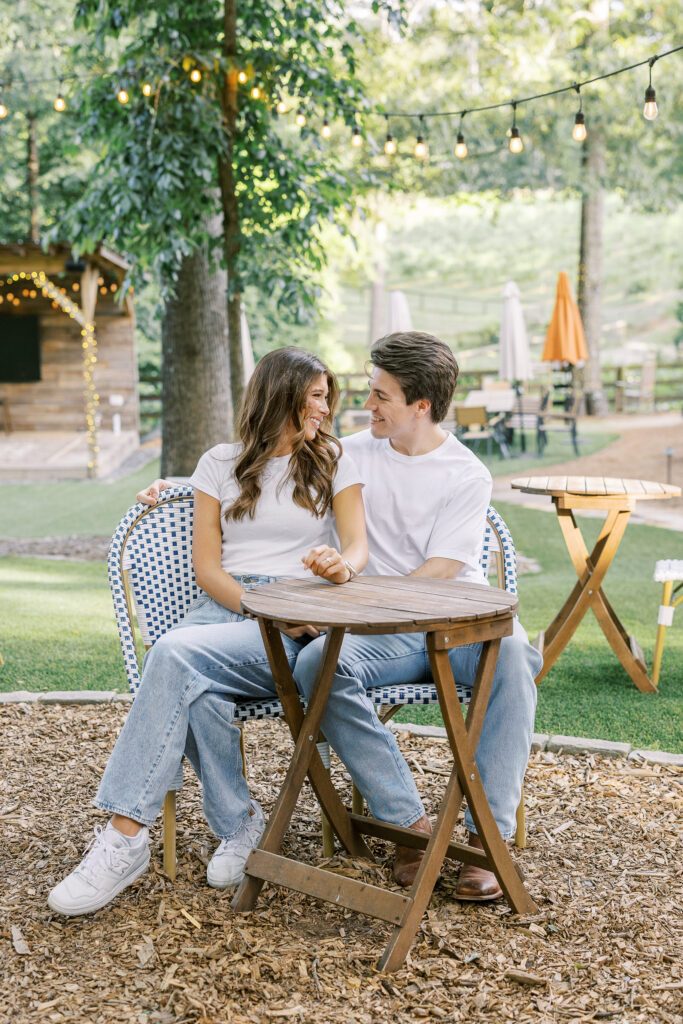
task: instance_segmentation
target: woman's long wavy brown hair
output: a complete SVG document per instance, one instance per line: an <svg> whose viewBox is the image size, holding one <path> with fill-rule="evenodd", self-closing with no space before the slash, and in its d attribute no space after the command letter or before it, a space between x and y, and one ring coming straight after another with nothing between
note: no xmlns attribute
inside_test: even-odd
<svg viewBox="0 0 683 1024"><path fill-rule="evenodd" d="M330 409L312 440L306 440L304 410L306 394L316 377L328 381ZM294 480L294 503L318 518L332 504L332 481L341 445L331 433L339 386L334 374L316 355L300 348L279 348L256 364L240 410L238 435L243 444L234 466L240 496L226 510L225 518L251 519L261 496L261 477L266 463L294 425L295 434L287 479Z"/></svg>

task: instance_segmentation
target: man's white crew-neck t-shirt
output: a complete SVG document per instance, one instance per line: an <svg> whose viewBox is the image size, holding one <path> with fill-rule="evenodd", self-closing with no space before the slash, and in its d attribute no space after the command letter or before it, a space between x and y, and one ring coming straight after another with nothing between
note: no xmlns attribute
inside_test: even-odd
<svg viewBox="0 0 683 1024"><path fill-rule="evenodd" d="M458 579L486 583L479 568L490 473L453 434L433 452L407 456L362 430L344 437L365 483L370 559L366 575L405 575L428 558L464 562Z"/></svg>

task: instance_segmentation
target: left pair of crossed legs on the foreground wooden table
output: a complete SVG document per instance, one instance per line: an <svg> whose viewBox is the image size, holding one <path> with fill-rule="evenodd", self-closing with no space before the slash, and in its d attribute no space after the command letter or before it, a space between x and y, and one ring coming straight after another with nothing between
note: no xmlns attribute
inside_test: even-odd
<svg viewBox="0 0 683 1024"><path fill-rule="evenodd" d="M278 695L295 739L295 749L285 782L270 813L258 849L268 853L278 853L294 813L301 786L306 774L308 774L323 810L346 849L355 856L368 856L373 859L362 837L354 829L346 809L332 785L315 746L345 630L331 628L328 631L317 679L304 716L296 684L285 655L280 631L271 623L259 620L259 625ZM262 887L263 880L249 873L249 860L247 860L245 878L232 900L233 909L250 910Z"/></svg>

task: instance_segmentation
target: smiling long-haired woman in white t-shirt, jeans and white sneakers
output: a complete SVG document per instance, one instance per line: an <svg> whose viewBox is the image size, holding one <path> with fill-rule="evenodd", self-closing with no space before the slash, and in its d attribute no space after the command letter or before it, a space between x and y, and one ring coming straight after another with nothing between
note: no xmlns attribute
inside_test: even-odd
<svg viewBox="0 0 683 1024"><path fill-rule="evenodd" d="M147 826L183 753L220 840L208 882L222 889L242 881L264 820L242 774L234 702L271 697L274 684L258 625L240 612L241 595L308 571L343 585L368 560L360 478L329 433L337 397L335 378L316 356L270 352L247 387L240 442L217 444L200 459L191 477L193 562L204 594L145 656L94 801L112 819L95 827L83 861L50 893L53 910L72 916L99 909L142 874ZM338 547L329 543L334 525ZM301 627L284 637L291 667L314 635Z"/></svg>

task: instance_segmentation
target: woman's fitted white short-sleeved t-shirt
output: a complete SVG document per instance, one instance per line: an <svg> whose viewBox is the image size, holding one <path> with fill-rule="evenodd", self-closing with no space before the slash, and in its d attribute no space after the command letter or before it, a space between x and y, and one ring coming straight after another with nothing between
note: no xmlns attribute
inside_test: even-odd
<svg viewBox="0 0 683 1024"><path fill-rule="evenodd" d="M255 517L226 522L225 511L240 494L232 471L241 451L241 444L216 444L202 456L189 481L220 502L221 567L232 575L310 577L301 559L311 548L333 541L332 510L318 519L294 504L294 482L286 480L290 456L285 455L266 464ZM353 460L340 456L333 496L361 482Z"/></svg>

